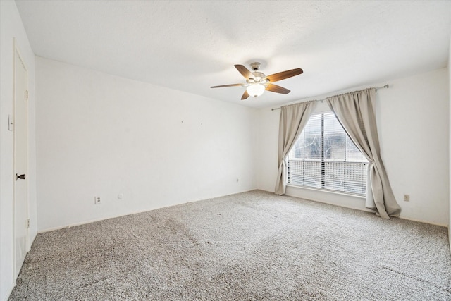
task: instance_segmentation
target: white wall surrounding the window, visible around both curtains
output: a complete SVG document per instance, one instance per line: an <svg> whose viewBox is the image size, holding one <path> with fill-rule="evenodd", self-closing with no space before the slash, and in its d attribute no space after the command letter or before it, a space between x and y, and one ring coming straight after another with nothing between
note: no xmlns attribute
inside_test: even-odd
<svg viewBox="0 0 451 301"><path fill-rule="evenodd" d="M443 68L374 85L390 84L376 93L376 119L381 156L402 207L401 217L443 226L448 224L450 185L447 72ZM326 96L330 95L316 99ZM276 183L279 113L270 108L259 112L259 149L264 153L259 157L258 185L262 190L273 191ZM302 188L288 188L287 194L364 209L364 199L358 197ZM404 194L410 195L410 202L403 201Z"/></svg>

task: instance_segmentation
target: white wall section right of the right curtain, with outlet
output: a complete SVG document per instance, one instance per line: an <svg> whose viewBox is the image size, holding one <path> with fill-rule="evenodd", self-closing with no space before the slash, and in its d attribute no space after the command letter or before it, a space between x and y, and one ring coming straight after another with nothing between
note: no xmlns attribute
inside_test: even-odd
<svg viewBox="0 0 451 301"><path fill-rule="evenodd" d="M381 152L401 216L443 226L449 204L447 68L390 81L377 106ZM410 202L404 202L404 194Z"/></svg>

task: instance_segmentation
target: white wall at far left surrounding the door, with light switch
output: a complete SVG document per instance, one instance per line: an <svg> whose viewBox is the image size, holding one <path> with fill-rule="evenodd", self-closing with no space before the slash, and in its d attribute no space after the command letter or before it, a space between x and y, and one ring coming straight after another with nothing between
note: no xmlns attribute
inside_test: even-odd
<svg viewBox="0 0 451 301"><path fill-rule="evenodd" d="M30 158L29 216L30 241L37 233L35 181L35 54L28 42L16 3L0 1L0 300L6 300L14 286L13 278L13 132L8 115L13 114L13 37L28 68Z"/></svg>

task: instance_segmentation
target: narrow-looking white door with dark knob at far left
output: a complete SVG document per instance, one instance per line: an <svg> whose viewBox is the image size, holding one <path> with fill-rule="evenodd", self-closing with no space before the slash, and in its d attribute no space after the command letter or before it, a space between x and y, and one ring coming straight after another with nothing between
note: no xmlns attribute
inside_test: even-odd
<svg viewBox="0 0 451 301"><path fill-rule="evenodd" d="M17 278L28 247L28 75L16 43L14 50L14 276Z"/></svg>

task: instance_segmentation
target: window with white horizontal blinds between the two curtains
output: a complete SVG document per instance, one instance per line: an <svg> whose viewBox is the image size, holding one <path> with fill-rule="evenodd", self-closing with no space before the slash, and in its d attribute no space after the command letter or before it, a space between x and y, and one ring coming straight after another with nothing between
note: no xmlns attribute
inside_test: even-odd
<svg viewBox="0 0 451 301"><path fill-rule="evenodd" d="M312 115L288 154L288 185L366 195L367 171L334 113Z"/></svg>

